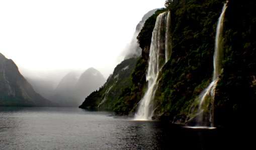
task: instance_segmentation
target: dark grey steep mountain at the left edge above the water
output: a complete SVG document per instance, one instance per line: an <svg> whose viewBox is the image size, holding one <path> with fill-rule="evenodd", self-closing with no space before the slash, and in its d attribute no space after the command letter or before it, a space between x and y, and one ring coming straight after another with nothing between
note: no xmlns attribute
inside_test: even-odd
<svg viewBox="0 0 256 150"><path fill-rule="evenodd" d="M54 106L35 92L12 59L0 53L0 106Z"/></svg>

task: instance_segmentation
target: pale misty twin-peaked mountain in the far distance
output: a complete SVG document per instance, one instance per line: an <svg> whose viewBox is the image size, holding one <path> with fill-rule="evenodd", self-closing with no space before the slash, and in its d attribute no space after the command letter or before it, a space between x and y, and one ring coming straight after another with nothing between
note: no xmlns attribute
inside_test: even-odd
<svg viewBox="0 0 256 150"><path fill-rule="evenodd" d="M60 80L50 99L59 106L78 106L85 97L103 85L105 80L101 72L93 67L84 71L80 77L69 72Z"/></svg>

